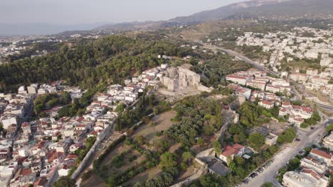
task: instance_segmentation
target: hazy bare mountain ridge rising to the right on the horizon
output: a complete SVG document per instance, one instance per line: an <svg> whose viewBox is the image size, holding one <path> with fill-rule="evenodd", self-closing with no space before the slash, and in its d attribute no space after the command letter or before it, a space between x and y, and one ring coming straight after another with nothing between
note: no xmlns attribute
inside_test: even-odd
<svg viewBox="0 0 333 187"><path fill-rule="evenodd" d="M253 18L274 21L332 20L333 0L253 0L222 6L191 16L172 18L169 21L119 23L100 26L97 30L156 30L175 25L194 25L221 19Z"/></svg>

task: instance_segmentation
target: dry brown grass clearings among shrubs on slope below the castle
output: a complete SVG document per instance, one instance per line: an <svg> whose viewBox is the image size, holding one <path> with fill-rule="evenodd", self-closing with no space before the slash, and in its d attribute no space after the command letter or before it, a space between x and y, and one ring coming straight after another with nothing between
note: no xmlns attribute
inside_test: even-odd
<svg viewBox="0 0 333 187"><path fill-rule="evenodd" d="M171 122L171 119L176 116L175 111L166 111L159 115L155 115L149 123L145 123L140 126L137 130L134 131L132 138L142 136L148 142L147 145L152 145L154 140L164 138L164 136L157 137L156 132L169 129L169 127L174 123ZM174 152L178 149L180 144L173 145L171 142L170 152ZM143 146L144 149L149 149L151 146ZM117 162L115 162L117 158ZM125 142L117 145L110 154L107 154L107 157L103 159L100 171L105 176L112 176L112 174L119 174L122 171L129 169L131 166L139 166L139 163L144 162L146 158L144 155L140 154L136 149L132 148L129 145L125 145ZM146 171L134 176L132 179L129 179L123 185L133 186L137 181L147 181L152 179L152 177L160 174L162 169L159 166L155 166L152 169L147 169ZM102 179L99 178L96 174L93 174L90 179L83 181L81 186L105 186L105 183Z"/></svg>

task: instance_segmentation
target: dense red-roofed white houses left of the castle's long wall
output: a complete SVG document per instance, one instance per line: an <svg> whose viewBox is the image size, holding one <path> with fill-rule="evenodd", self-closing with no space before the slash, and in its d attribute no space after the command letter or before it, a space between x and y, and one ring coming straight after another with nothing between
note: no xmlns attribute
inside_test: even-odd
<svg viewBox="0 0 333 187"><path fill-rule="evenodd" d="M162 64L125 80L125 86L108 86L106 93L96 96L82 116L73 118L58 118L63 106L54 106L43 111L46 117L26 122L35 98L65 91L74 101L85 93L76 87L64 86L61 81L21 86L18 94L0 94L3 127L0 186L50 186L59 176L67 176L78 159L78 149L87 147L90 137L110 131L121 112L117 107L137 101L147 86L158 86L169 69L167 64Z"/></svg>

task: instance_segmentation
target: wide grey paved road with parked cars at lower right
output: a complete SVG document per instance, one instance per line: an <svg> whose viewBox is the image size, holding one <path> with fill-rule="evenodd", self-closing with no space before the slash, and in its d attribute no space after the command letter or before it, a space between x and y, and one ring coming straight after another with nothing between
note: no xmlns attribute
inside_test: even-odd
<svg viewBox="0 0 333 187"><path fill-rule="evenodd" d="M298 130L297 135L300 138L300 142L292 142L289 145L286 145L278 154L273 157L273 163L268 166L263 173L256 176L248 184L242 184L242 186L261 186L265 181L272 182L275 186L281 186L275 180L276 172L287 164L287 162L295 157L302 149L305 147L310 147L313 144L318 143L319 140L316 140L316 137L320 135L324 136L325 130L324 127L327 125L329 120L325 120L323 123L319 123L317 128L314 130L303 131Z"/></svg>

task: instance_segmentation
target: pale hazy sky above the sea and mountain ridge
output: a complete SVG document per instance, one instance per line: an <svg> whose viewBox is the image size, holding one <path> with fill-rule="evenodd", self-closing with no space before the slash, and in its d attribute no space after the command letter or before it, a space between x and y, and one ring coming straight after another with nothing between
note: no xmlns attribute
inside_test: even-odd
<svg viewBox="0 0 333 187"><path fill-rule="evenodd" d="M242 0L0 0L0 23L158 21Z"/></svg>

